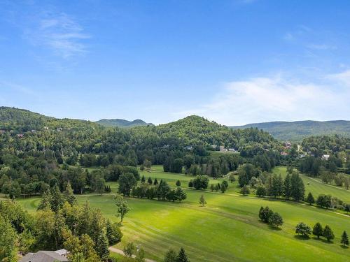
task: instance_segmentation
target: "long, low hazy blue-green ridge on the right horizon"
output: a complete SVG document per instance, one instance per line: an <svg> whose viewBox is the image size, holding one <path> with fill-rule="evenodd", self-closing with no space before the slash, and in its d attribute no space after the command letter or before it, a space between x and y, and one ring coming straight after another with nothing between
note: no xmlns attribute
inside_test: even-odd
<svg viewBox="0 0 350 262"><path fill-rule="evenodd" d="M297 122L266 122L232 126L232 129L246 129L256 127L267 131L279 140L301 141L309 136L338 134L350 138L350 121L297 121Z"/></svg>

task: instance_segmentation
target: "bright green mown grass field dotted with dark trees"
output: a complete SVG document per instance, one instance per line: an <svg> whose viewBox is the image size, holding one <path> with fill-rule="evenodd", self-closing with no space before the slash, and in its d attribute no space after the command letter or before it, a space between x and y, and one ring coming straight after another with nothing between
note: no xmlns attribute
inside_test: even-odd
<svg viewBox="0 0 350 262"><path fill-rule="evenodd" d="M285 168L274 171L283 173L283 170ZM183 203L127 198L132 210L123 222L123 241L116 245L120 249L133 241L141 244L146 256L155 261L162 261L169 247L176 250L184 247L191 261L349 261L350 249L339 245L342 231L350 232L350 217L344 214L293 202L239 196L237 182L230 184L228 194L187 189L191 176L163 173L160 166L153 166L151 173L142 171L141 175L146 179L151 176L153 180L155 177L158 181L167 180L171 186L181 180L188 198ZM110 185L112 191L116 191L118 185ZM341 199L350 198L349 191L318 182L309 184L309 190L315 195L339 194ZM205 207L198 203L201 194L207 201ZM86 200L92 207L100 208L106 217L118 221L113 194L78 196L79 203ZM38 201L39 198L20 200L29 211L36 210ZM281 230L259 221L258 210L265 205L282 215ZM335 240L328 243L298 238L294 231L300 221L309 226L317 221L323 226L328 224L335 233Z"/></svg>

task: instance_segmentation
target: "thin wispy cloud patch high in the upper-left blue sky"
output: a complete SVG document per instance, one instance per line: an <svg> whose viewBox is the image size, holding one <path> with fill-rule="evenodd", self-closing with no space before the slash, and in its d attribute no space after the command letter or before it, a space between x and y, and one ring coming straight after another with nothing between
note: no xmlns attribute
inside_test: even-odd
<svg viewBox="0 0 350 262"><path fill-rule="evenodd" d="M66 13L50 13L39 17L25 36L34 45L50 48L64 59L87 52L84 40L90 38L83 27Z"/></svg>

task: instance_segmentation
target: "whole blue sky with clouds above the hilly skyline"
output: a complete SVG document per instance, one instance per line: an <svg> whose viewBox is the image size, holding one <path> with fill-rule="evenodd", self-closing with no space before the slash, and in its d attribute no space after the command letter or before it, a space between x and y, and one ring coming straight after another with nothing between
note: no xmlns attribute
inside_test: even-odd
<svg viewBox="0 0 350 262"><path fill-rule="evenodd" d="M0 105L54 117L350 119L349 1L0 0Z"/></svg>

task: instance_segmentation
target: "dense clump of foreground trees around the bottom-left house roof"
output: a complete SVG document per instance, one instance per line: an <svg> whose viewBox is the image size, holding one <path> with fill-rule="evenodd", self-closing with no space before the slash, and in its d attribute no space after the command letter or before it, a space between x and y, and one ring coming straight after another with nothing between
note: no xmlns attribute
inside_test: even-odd
<svg viewBox="0 0 350 262"><path fill-rule="evenodd" d="M76 205L70 184L63 194L57 184L45 191L33 215L15 201L0 201L0 235L1 261L17 261L18 252L64 248L71 261L83 262L107 261L109 246L123 236L100 210Z"/></svg>

